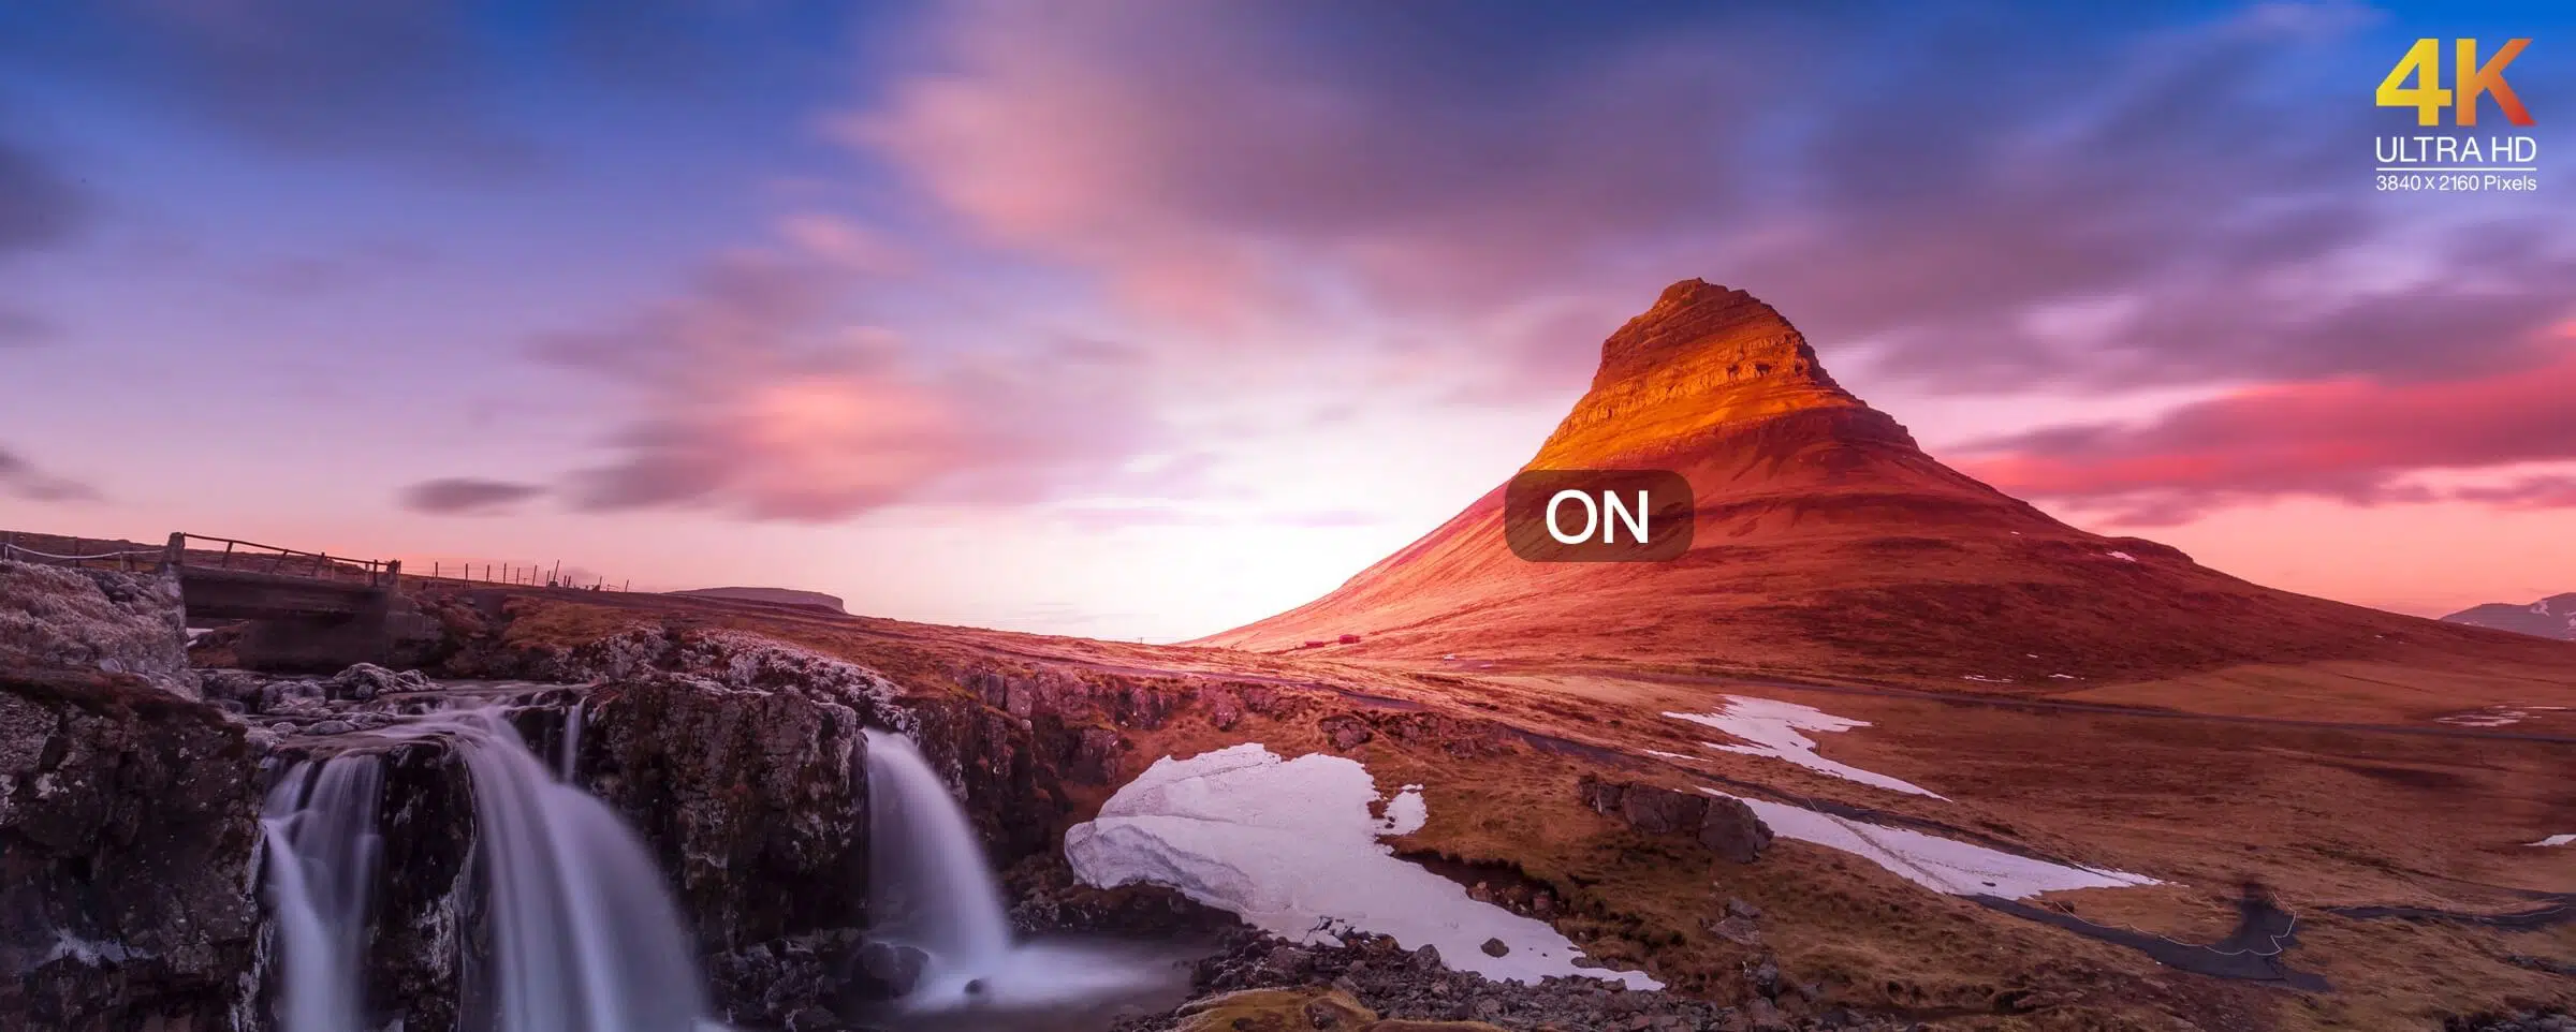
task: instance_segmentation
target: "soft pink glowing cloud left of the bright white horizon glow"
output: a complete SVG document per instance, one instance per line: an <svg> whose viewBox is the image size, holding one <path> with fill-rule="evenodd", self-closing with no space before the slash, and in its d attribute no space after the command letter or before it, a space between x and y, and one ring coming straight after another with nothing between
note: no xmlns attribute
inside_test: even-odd
<svg viewBox="0 0 2576 1032"><path fill-rule="evenodd" d="M690 291L541 353L631 391L582 510L842 520L907 502L1028 504L1115 481L1159 443L1141 358L1036 340L917 347L855 322L850 270L747 250Z"/></svg>

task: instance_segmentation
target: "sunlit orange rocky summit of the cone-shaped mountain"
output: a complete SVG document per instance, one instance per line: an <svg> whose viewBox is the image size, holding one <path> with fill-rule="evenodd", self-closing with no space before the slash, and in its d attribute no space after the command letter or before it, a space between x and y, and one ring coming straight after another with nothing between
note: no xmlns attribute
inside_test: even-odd
<svg viewBox="0 0 2576 1032"><path fill-rule="evenodd" d="M1708 281L1667 286L1602 340L1592 391L1530 466L1615 466L1723 425L1806 409L1865 409L1777 309Z"/></svg>

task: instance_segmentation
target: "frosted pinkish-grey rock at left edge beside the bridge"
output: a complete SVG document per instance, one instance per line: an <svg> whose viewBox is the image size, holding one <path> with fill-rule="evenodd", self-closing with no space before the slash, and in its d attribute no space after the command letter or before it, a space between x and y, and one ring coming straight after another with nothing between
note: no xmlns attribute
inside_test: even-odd
<svg viewBox="0 0 2576 1032"><path fill-rule="evenodd" d="M0 669L129 674L198 697L178 576L0 558Z"/></svg>

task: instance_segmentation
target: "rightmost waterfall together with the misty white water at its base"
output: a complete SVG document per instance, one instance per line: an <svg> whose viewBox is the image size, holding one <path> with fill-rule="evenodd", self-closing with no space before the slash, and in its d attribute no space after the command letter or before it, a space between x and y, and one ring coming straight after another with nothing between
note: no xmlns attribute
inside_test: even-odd
<svg viewBox="0 0 2576 1032"><path fill-rule="evenodd" d="M1012 944L1002 888L948 785L912 739L876 728L866 739L871 937L927 955L904 1011L1030 1011L1175 988L1167 957Z"/></svg>

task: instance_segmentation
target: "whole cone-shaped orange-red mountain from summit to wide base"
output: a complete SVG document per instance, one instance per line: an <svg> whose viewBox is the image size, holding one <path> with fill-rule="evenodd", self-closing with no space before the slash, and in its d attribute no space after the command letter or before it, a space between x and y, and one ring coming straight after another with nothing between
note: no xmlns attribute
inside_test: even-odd
<svg viewBox="0 0 2576 1032"><path fill-rule="evenodd" d="M2027 690L2504 641L2069 528L1927 456L1780 311L1705 281L1664 288L1602 342L1589 394L1525 468L1677 471L1692 546L1662 564L1522 561L1497 486L1332 594L1200 643L1360 636L1334 654Z"/></svg>

